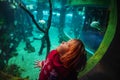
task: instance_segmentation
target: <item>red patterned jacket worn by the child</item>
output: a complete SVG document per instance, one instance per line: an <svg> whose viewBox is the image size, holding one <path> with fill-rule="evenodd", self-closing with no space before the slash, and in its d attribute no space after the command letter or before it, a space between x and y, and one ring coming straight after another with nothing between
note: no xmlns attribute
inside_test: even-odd
<svg viewBox="0 0 120 80"><path fill-rule="evenodd" d="M52 50L47 59L42 61L39 80L77 80L77 73L66 69L59 59L56 50Z"/></svg>

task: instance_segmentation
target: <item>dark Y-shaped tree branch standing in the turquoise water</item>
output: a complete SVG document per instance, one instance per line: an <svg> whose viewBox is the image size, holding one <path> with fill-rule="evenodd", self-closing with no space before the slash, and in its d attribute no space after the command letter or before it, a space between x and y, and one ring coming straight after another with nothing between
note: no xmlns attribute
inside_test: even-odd
<svg viewBox="0 0 120 80"><path fill-rule="evenodd" d="M19 4L19 6L24 10L26 11L29 16L32 18L33 22L35 23L35 25L37 26L37 28L42 31L44 33L44 36L43 36L43 39L45 41L42 41L42 44L47 44L47 55L50 51L50 38L49 38L49 29L50 29L50 26L51 26L51 19L52 19L52 2L51 0L48 0L49 1L49 17L48 17L48 23L47 23L47 29L46 30L43 30L41 27L39 27L39 25L37 24L37 22L35 21L35 18L34 16L31 14L31 12L29 10L27 10L21 3ZM43 46L41 46L40 48L40 53L42 53L42 50L43 50ZM42 50L41 50L42 49Z"/></svg>

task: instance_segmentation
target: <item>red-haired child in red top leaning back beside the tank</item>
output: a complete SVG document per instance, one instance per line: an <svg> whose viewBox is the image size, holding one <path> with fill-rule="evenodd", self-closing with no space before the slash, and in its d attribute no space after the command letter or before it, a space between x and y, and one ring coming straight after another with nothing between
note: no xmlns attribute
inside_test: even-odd
<svg viewBox="0 0 120 80"><path fill-rule="evenodd" d="M46 60L35 64L41 68L39 80L77 80L86 60L84 44L79 39L72 39L62 42L48 54Z"/></svg>

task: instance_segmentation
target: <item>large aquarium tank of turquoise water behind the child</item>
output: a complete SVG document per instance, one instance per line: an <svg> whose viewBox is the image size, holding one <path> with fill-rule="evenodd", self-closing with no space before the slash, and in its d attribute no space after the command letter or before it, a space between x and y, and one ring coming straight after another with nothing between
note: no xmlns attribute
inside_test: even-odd
<svg viewBox="0 0 120 80"><path fill-rule="evenodd" d="M87 2L0 0L0 80L37 80L40 70L34 62L73 38L83 41L88 59L93 56L106 32L109 9L80 1Z"/></svg>

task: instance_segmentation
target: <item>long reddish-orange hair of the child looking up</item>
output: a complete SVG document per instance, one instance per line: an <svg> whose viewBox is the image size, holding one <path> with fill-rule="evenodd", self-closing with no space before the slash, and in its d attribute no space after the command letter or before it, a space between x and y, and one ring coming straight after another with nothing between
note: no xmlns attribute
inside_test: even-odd
<svg viewBox="0 0 120 80"><path fill-rule="evenodd" d="M85 67L86 52L84 44L79 39L73 39L69 51L60 57L64 67L72 70L79 71Z"/></svg>

